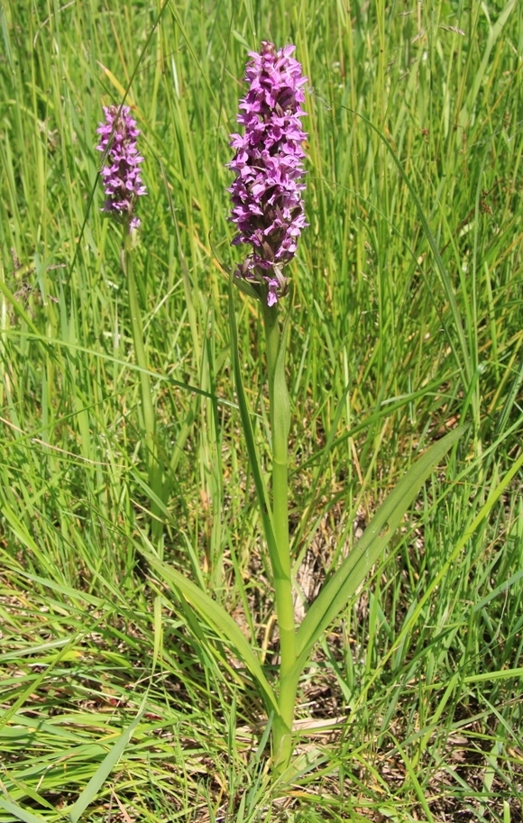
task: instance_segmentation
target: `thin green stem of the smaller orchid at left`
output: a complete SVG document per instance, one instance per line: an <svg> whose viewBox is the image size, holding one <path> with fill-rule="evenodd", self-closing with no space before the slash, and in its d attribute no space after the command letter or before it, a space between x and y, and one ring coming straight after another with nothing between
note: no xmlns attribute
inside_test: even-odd
<svg viewBox="0 0 523 823"><path fill-rule="evenodd" d="M153 498L151 500L151 535L154 546L162 554L161 536L163 523L158 500L161 500L161 463L158 455L158 445L156 440L156 416L152 402L151 379L149 377L149 366L143 346L142 315L138 302L138 289L134 277L133 267L133 239L127 225L124 226L124 243L122 250L122 265L127 278L127 289L129 293L129 312L131 315L131 326L133 329L134 352L136 362L140 368L140 382L142 388L142 414L143 414L143 440L145 444L147 459L147 475L149 486Z"/></svg>

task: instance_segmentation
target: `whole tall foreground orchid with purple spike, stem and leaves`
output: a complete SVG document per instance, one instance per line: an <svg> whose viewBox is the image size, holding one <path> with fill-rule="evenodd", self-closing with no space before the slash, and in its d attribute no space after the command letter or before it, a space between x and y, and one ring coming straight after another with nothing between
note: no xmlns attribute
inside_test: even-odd
<svg viewBox="0 0 523 823"><path fill-rule="evenodd" d="M287 320L280 329L281 298L289 281L285 266L294 257L298 238L307 225L302 200L303 142L306 134L300 118L304 111L301 66L292 57L294 46L277 50L263 42L261 52L251 52L246 70L249 89L241 101L238 122L243 134L233 134L235 149L229 168L235 172L229 191L233 208L230 219L238 233L234 244L247 243L251 251L235 270L242 290L260 301L266 337L269 401L271 409L272 486L268 494L252 437L251 417L242 385L234 311L231 310L233 362L243 431L252 464L266 543L271 558L276 615L280 629L280 677L275 693L254 657L244 659L261 686L272 715L272 756L276 774L285 771L293 751L292 727L300 673L314 645L346 605L377 562L393 530L399 525L423 481L457 440L460 432L447 434L420 458L399 482L372 519L358 543L340 567L332 572L301 625L295 625L292 568L289 550L288 442L289 394L285 375ZM210 606L210 604L209 604ZM223 624L225 625L225 623ZM243 638L229 624L236 648Z"/></svg>

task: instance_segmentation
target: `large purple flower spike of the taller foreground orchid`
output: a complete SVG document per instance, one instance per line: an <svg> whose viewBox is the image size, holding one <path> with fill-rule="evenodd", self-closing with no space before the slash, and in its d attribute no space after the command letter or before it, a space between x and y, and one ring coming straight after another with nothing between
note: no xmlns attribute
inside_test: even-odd
<svg viewBox="0 0 523 823"><path fill-rule="evenodd" d="M228 189L233 201L230 219L238 227L233 242L252 245L252 253L235 274L261 284L255 288L263 297L266 294L269 306L286 293L282 268L294 257L307 225L301 198L305 185L300 182L307 135L299 120L305 114L300 104L307 78L291 57L295 48L276 50L264 41L260 54L249 52L245 80L250 88L240 103L243 114L238 115L245 132L231 135L236 153L228 164L236 173Z"/></svg>

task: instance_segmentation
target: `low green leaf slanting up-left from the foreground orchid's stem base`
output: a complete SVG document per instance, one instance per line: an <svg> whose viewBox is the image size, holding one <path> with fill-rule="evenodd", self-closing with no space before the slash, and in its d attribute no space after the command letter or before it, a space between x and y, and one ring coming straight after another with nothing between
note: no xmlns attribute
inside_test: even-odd
<svg viewBox="0 0 523 823"><path fill-rule="evenodd" d="M252 651L247 638L243 635L241 628L235 623L233 617L225 611L223 606L216 603L210 595L200 589L195 583L189 581L183 574L177 572L166 562L162 562L155 554L144 552L144 557L151 567L156 569L162 581L170 583L181 592L188 603L196 609L197 613L206 620L207 626L211 626L216 633L224 638L229 648L234 650L240 660L245 664L252 677L261 687L262 697L269 712L278 711L278 701L271 684L265 677L261 663Z"/></svg>

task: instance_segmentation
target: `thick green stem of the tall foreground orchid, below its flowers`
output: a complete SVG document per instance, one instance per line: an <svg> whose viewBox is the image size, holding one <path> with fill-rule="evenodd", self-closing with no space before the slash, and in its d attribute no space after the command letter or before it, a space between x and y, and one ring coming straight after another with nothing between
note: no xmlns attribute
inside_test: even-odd
<svg viewBox="0 0 523 823"><path fill-rule="evenodd" d="M292 755L292 722L298 690L296 676L296 626L292 598L289 551L289 397L285 384L285 330L280 337L278 306L263 306L263 323L267 341L269 401L272 438L272 518L277 556L271 557L280 629L280 713L272 724L273 763L276 773L283 771Z"/></svg>

